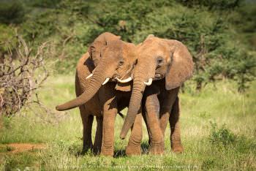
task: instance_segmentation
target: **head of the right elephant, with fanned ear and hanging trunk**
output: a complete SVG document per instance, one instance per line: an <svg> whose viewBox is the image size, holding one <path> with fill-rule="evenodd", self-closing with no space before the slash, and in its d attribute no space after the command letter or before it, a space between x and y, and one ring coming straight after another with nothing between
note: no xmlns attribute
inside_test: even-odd
<svg viewBox="0 0 256 171"><path fill-rule="evenodd" d="M194 64L189 50L176 40L150 35L138 45L136 53L138 62L133 74L132 96L121 130L121 139L126 137L135 121L146 86L150 86L153 80L165 79L166 90L177 88L192 77L193 72Z"/></svg>

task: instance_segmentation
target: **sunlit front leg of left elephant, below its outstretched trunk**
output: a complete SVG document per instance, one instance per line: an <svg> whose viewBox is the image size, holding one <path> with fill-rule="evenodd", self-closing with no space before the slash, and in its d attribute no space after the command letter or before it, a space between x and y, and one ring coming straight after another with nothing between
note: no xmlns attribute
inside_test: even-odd
<svg viewBox="0 0 256 171"><path fill-rule="evenodd" d="M111 106L110 106L111 105ZM102 151L103 156L113 156L114 153L114 129L117 114L115 99L105 102L103 107Z"/></svg>

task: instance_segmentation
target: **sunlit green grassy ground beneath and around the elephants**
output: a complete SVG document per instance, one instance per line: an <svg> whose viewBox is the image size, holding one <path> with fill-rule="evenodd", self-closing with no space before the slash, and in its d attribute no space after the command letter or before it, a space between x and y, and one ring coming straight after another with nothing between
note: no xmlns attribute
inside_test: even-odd
<svg viewBox="0 0 256 171"><path fill-rule="evenodd" d="M72 76L50 77L40 96L46 106L75 97ZM147 155L148 136L143 130L143 155L127 157L127 140L119 140L123 123L116 120L114 158L79 156L82 148L82 123L78 109L50 113L39 108L24 110L13 118L1 118L0 144L12 142L45 143L44 150L10 153L0 148L0 170L256 170L256 83L246 94L238 94L232 83L208 85L202 92L189 89L181 94L181 137L185 152L170 151L167 129L166 153ZM95 125L94 125L95 130Z"/></svg>

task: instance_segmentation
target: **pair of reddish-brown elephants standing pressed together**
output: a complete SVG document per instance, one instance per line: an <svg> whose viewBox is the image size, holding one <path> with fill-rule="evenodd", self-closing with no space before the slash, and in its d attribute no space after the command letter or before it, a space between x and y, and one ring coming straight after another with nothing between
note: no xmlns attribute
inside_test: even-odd
<svg viewBox="0 0 256 171"><path fill-rule="evenodd" d="M146 122L149 153L165 151L164 135L170 123L171 149L184 151L179 126L178 91L192 77L193 61L185 45L149 35L134 45L105 32L78 61L75 75L77 98L56 110L79 107L83 121L83 151L113 156L116 115L128 107L121 129L124 139L131 129L126 154L140 155L142 120ZM91 129L97 120L94 143Z"/></svg>

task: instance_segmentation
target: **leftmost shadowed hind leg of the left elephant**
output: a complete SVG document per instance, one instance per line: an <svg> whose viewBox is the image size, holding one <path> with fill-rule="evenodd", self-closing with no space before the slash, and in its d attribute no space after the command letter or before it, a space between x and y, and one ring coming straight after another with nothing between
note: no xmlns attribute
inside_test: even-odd
<svg viewBox="0 0 256 171"><path fill-rule="evenodd" d="M83 151L86 153L89 149L92 148L91 141L91 127L94 121L94 116L89 114L89 111L85 109L84 106L79 107L80 115L83 121Z"/></svg>

